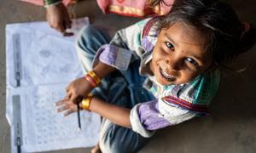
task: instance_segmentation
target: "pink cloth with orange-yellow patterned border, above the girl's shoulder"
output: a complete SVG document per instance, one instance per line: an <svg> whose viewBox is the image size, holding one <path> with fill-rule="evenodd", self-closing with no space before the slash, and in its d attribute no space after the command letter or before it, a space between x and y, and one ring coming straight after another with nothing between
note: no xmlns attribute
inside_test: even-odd
<svg viewBox="0 0 256 153"><path fill-rule="evenodd" d="M148 0L97 0L97 3L104 14L115 13L143 17L150 14L168 13L174 0L163 0L154 8L148 5Z"/></svg>

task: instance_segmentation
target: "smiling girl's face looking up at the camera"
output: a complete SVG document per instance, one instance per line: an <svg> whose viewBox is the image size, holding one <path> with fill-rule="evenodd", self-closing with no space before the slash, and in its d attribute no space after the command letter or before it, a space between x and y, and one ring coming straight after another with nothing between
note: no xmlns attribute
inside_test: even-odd
<svg viewBox="0 0 256 153"><path fill-rule="evenodd" d="M203 49L203 38L183 22L162 29L153 50L150 69L162 85L192 81L212 63Z"/></svg>

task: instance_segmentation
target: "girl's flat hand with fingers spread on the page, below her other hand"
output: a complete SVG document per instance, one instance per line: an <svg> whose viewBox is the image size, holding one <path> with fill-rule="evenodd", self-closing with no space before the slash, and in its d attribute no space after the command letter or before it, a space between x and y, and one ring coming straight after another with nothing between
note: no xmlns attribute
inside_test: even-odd
<svg viewBox="0 0 256 153"><path fill-rule="evenodd" d="M65 111L64 116L68 116L69 114L78 111L77 105L67 98L56 102L55 105L59 107L57 112ZM81 103L79 103L79 107L82 109Z"/></svg>

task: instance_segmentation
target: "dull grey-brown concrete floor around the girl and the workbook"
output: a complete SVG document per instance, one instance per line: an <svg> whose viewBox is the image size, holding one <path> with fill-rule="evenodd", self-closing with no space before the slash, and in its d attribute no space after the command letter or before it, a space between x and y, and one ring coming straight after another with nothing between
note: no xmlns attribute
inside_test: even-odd
<svg viewBox="0 0 256 153"><path fill-rule="evenodd" d="M256 25L256 1L226 0L241 20ZM246 3L245 3L246 2ZM96 25L113 33L138 19L115 14L104 15L95 0L84 0L75 8L77 17L89 16ZM10 152L9 125L5 118L5 25L44 19L44 8L15 0L1 0L0 5L0 152ZM119 24L117 24L119 23ZM114 26L113 26L114 25ZM237 65L247 65L242 73L225 75L211 115L159 130L140 152L147 153L255 153L256 152L256 48ZM246 64L244 64L246 61ZM51 151L56 153L90 152L90 149Z"/></svg>

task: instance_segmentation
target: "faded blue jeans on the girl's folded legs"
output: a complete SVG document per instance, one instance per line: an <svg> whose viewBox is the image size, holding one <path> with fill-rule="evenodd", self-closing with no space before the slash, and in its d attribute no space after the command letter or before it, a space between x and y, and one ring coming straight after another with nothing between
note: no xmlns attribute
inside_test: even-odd
<svg viewBox="0 0 256 153"><path fill-rule="evenodd" d="M98 48L109 42L102 31L93 26L85 26L76 41L76 50L83 71L86 73L92 69L92 60ZM127 71L114 71L102 79L100 87L95 88L93 93L108 103L125 108L132 108L141 102L154 99L154 96L143 88L145 77L139 75L138 67L140 61L132 62ZM148 143L139 133L131 128L120 127L108 119L102 119L100 132L100 148L103 153L125 153L137 152Z"/></svg>

